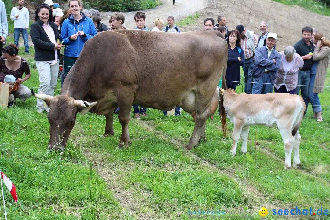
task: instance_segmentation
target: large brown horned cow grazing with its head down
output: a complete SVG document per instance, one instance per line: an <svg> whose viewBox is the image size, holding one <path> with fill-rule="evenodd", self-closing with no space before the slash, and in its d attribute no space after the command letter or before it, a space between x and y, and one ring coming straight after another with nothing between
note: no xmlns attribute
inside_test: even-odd
<svg viewBox="0 0 330 220"><path fill-rule="evenodd" d="M188 113L195 111L194 131L186 145L192 149L205 138L206 120L216 111L211 102L218 102L213 97L227 57L227 43L216 30L101 32L84 44L58 96L34 94L50 106L48 148L64 151L78 112L104 114L104 136L114 135L117 106L122 126L119 146L128 147L128 121L135 103L159 110L181 106Z"/></svg>

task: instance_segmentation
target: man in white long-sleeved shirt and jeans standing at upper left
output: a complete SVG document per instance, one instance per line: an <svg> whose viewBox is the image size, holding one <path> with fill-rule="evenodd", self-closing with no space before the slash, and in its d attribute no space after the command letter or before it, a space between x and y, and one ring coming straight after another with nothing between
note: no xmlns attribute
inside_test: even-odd
<svg viewBox="0 0 330 220"><path fill-rule="evenodd" d="M10 19L14 21L14 44L18 47L18 39L20 33L24 40L25 53L29 54L29 40L27 37L27 29L29 28L29 10L25 7L24 0L18 0L17 6L12 9Z"/></svg>

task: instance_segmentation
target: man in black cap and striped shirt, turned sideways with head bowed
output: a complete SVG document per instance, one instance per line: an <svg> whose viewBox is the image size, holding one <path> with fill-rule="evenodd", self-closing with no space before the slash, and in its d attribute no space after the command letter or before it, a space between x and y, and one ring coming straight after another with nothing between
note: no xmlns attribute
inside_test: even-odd
<svg viewBox="0 0 330 220"><path fill-rule="evenodd" d="M242 66L245 77L244 90L245 93L252 94L252 71L254 67L255 48L258 46L258 35L246 29L242 24L237 25L236 30L240 33L245 56L245 64Z"/></svg>

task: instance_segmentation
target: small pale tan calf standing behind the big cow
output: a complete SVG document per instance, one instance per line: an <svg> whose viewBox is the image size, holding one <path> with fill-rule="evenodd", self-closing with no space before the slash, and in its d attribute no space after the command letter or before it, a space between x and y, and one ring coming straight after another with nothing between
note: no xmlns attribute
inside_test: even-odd
<svg viewBox="0 0 330 220"><path fill-rule="evenodd" d="M284 142L284 169L291 167L293 148L293 167L300 165L299 144L301 136L298 128L306 108L301 96L289 93L237 94L233 89L220 89L220 108L222 118L226 113L234 124L233 146L230 152L235 156L238 139L241 136L243 153L247 152L247 140L250 125L277 126ZM226 129L226 120L222 120L222 129Z"/></svg>

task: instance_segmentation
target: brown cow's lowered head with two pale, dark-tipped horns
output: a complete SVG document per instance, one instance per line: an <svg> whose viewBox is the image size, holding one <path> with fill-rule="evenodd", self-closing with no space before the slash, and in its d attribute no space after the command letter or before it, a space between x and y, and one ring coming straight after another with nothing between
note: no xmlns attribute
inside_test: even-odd
<svg viewBox="0 0 330 220"><path fill-rule="evenodd" d="M62 95L53 97L34 93L33 90L32 94L34 97L44 100L50 107L47 115L49 121L48 149L64 152L70 132L75 125L77 113L86 113L97 102L89 103Z"/></svg>

